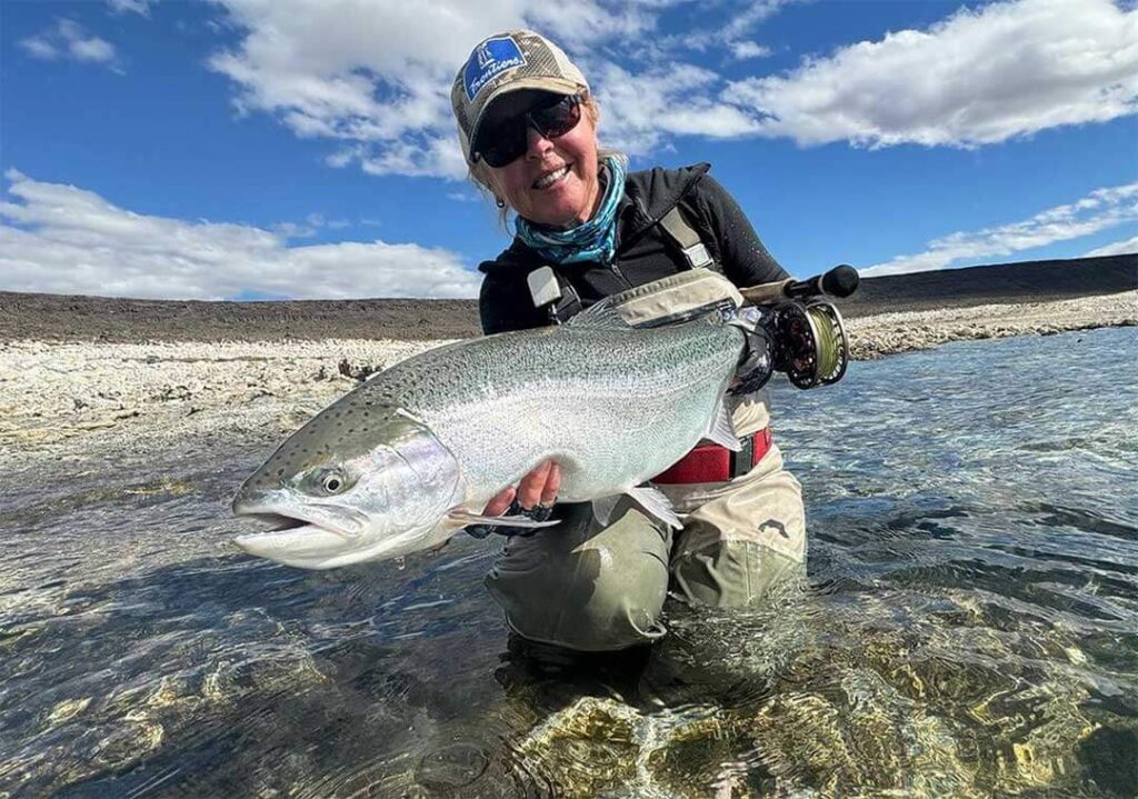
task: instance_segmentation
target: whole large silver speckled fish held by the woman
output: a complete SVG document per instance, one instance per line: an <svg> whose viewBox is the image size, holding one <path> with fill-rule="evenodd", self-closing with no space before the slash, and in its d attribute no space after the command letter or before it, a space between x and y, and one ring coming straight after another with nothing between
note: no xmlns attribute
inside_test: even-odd
<svg viewBox="0 0 1138 799"><path fill-rule="evenodd" d="M560 501L603 508L628 494L678 526L641 484L701 438L739 448L724 393L743 345L717 320L643 330L602 305L566 326L428 351L281 444L233 501L279 529L237 544L328 569L424 550L470 524L555 524L479 516L547 459L562 468Z"/></svg>

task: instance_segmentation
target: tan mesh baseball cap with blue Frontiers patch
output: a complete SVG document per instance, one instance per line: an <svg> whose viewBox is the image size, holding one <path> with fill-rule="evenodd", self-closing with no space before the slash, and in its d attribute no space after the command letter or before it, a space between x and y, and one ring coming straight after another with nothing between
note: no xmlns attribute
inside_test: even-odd
<svg viewBox="0 0 1138 799"><path fill-rule="evenodd" d="M468 163L473 163L470 146L490 104L521 90L576 94L588 91L588 82L561 48L538 33L517 30L484 39L451 89L459 142Z"/></svg>

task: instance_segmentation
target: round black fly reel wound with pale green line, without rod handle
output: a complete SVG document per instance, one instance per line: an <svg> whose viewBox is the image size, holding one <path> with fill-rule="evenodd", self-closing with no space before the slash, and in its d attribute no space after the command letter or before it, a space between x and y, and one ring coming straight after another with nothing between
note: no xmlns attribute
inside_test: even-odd
<svg viewBox="0 0 1138 799"><path fill-rule="evenodd" d="M799 388L838 382L849 365L842 315L831 303L781 303L775 307L777 368Z"/></svg>

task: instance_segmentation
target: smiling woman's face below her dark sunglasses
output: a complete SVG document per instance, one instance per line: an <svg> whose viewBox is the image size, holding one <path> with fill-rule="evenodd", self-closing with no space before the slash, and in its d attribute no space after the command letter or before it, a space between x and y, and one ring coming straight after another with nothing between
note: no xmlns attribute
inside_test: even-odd
<svg viewBox="0 0 1138 799"><path fill-rule="evenodd" d="M525 154L505 166L488 167L493 189L530 222L572 228L596 208L596 126L587 108L580 122L556 139L533 126Z"/></svg>

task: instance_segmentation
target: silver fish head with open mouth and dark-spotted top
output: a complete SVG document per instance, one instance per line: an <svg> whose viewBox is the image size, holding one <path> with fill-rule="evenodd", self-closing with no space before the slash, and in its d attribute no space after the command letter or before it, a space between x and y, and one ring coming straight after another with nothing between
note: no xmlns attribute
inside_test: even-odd
<svg viewBox="0 0 1138 799"><path fill-rule="evenodd" d="M274 526L241 535L250 554L330 569L444 541L459 464L411 413L348 395L294 433L241 486L233 512Z"/></svg>

